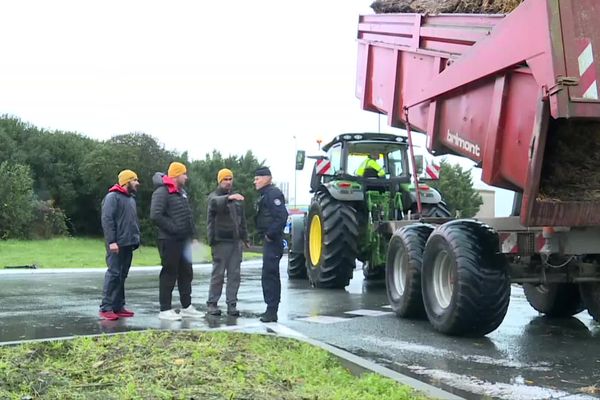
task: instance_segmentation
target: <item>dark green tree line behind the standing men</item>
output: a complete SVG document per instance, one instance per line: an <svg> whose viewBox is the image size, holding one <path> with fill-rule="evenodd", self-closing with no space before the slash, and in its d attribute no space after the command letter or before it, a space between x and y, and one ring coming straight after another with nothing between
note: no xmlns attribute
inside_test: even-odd
<svg viewBox="0 0 600 400"><path fill-rule="evenodd" d="M116 183L119 171L131 169L141 183L136 198L142 241L152 244L152 176L166 172L172 161L188 168L186 190L198 226L205 225L206 197L217 185L217 172L225 167L233 170L234 188L246 197L249 232L254 232L254 171L263 162L251 151L227 157L213 151L203 160L190 161L187 152L167 150L145 133L101 141L1 116L0 239L102 235L102 198ZM199 229L199 234L206 239L205 230Z"/></svg>

